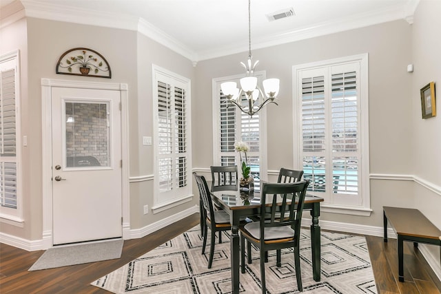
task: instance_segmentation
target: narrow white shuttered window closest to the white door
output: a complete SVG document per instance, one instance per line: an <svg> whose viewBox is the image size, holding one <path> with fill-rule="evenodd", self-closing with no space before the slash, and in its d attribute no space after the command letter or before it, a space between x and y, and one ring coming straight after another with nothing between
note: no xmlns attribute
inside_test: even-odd
<svg viewBox="0 0 441 294"><path fill-rule="evenodd" d="M192 200L190 80L156 65L153 72L154 213Z"/></svg>

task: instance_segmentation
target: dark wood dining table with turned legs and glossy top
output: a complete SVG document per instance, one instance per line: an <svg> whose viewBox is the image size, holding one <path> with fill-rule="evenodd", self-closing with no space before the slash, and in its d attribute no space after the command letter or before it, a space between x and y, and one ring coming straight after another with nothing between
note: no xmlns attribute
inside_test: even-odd
<svg viewBox="0 0 441 294"><path fill-rule="evenodd" d="M211 183L209 183L210 187ZM216 206L224 209L229 214L229 222L232 225L230 250L232 266L232 293L239 293L239 266L240 266L240 220L245 217L258 216L260 213L260 194L254 192L252 197L240 196L240 191L212 191L212 200ZM248 201L246 201L248 200ZM320 282L320 202L323 198L307 194L305 197L304 210L311 213L311 251L312 271L316 282Z"/></svg>

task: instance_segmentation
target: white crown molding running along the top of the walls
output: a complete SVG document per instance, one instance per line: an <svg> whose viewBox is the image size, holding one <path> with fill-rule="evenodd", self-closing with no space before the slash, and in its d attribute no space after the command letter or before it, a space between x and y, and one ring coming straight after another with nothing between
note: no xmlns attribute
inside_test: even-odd
<svg viewBox="0 0 441 294"><path fill-rule="evenodd" d="M274 45L281 45L310 39L317 36L324 36L327 34L334 34L346 30L353 30L378 23L385 23L388 21L396 21L403 19L409 24L413 23L413 13L415 12L420 0L408 0L406 6L391 6L384 10L377 12L367 12L362 14L354 14L349 17L340 18L336 21L328 21L317 23L308 28L296 28L277 35L265 36L263 38L255 39L253 42L254 49L267 48ZM61 2L60 2L61 3ZM119 28L125 30L134 30L143 34L154 41L164 45L165 47L181 54L185 58L193 62L194 66L198 61L206 59L213 59L230 54L237 54L246 52L248 50L248 43L245 41L234 43L232 45L225 45L221 48L207 51L197 51L188 48L183 43L177 41L172 36L163 32L163 30L156 28L154 25L139 17L132 17L130 15L115 14L109 12L92 11L81 8L68 8L63 5L54 5L43 3L39 1L21 0L14 1L10 6L21 6L23 4L26 17L35 17L39 19L50 19L54 21L64 21L70 23L80 23L83 25L97 25L107 28ZM8 7L8 6L7 6ZM17 9L17 8L16 8ZM14 15L14 19L23 17L21 14ZM8 18L8 17L7 17ZM6 19L7 19L6 18ZM11 22L9 19L3 21L1 19L0 27Z"/></svg>

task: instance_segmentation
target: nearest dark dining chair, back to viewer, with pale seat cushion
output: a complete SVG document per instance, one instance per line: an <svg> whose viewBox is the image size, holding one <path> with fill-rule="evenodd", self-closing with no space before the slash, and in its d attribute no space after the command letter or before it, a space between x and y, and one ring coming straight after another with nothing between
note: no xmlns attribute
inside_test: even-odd
<svg viewBox="0 0 441 294"><path fill-rule="evenodd" d="M265 286L265 252L280 249L294 249L294 264L298 291L302 291L302 276L300 273L300 222L305 204L306 190L309 181L293 183L263 183L260 191L260 220L249 222L240 231L240 264L241 272L245 273L245 240L251 242L260 251L260 280L262 293ZM298 198L297 204L291 205L291 200ZM272 199L271 199L272 198ZM268 201L268 203L267 203ZM269 213L269 218L267 214ZM248 263L251 257L248 256ZM277 254L277 266L280 266L281 255Z"/></svg>

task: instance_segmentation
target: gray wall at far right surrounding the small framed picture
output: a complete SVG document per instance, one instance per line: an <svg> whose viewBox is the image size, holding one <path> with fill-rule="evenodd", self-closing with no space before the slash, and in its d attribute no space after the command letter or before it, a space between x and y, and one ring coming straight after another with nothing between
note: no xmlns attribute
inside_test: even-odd
<svg viewBox="0 0 441 294"><path fill-rule="evenodd" d="M438 228L441 228L441 2L420 1L412 25L412 74L410 99L413 136L411 145L413 174L422 185L435 186L431 191L422 185L413 189L413 207L420 209ZM421 118L420 89L435 82L437 116ZM438 246L430 246L433 255L440 255ZM439 264L440 258L438 258Z"/></svg>

